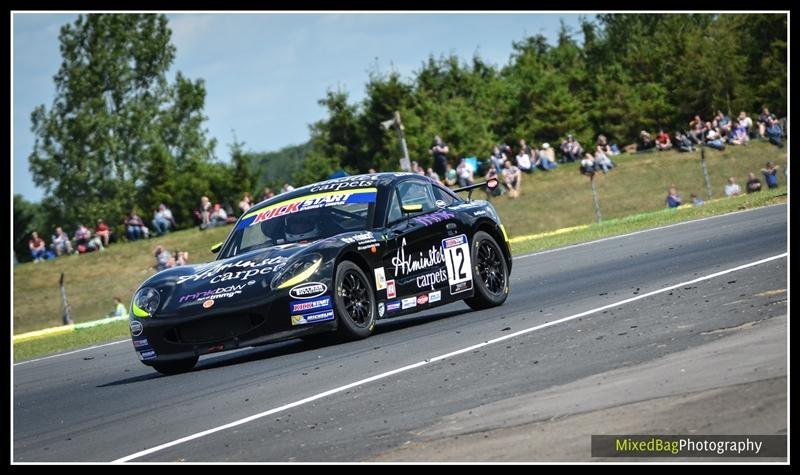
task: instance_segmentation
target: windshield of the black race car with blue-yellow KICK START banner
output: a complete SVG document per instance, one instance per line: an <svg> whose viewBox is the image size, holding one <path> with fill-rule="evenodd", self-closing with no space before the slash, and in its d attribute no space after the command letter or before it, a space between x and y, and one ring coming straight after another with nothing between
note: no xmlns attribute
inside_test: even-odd
<svg viewBox="0 0 800 475"><path fill-rule="evenodd" d="M376 188L311 193L250 210L237 223L220 257L366 230L376 195Z"/></svg>

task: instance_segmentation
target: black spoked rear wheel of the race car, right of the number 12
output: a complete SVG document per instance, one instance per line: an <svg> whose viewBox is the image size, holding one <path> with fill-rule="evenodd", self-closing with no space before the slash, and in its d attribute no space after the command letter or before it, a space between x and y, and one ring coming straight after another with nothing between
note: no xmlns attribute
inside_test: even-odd
<svg viewBox="0 0 800 475"><path fill-rule="evenodd" d="M508 298L508 264L494 238L478 231L472 238L472 285L475 295L464 299L473 310L503 305Z"/></svg>

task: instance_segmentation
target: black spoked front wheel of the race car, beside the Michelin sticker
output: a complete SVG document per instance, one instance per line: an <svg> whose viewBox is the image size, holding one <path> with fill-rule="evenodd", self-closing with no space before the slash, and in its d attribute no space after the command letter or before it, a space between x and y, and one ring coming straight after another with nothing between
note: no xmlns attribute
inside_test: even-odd
<svg viewBox="0 0 800 475"><path fill-rule="evenodd" d="M336 269L337 331L348 340L366 338L375 328L375 291L364 271L351 261Z"/></svg>

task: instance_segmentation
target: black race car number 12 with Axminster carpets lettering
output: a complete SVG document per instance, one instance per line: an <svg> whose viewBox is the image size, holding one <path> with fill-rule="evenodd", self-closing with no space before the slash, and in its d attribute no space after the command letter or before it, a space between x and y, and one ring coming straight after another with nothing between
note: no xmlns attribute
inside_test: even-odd
<svg viewBox="0 0 800 475"><path fill-rule="evenodd" d="M496 180L481 186L496 186ZM215 261L159 272L137 289L130 329L141 361L165 374L200 355L336 332L457 300L508 296L511 252L494 207L420 175L349 176L254 206Z"/></svg>

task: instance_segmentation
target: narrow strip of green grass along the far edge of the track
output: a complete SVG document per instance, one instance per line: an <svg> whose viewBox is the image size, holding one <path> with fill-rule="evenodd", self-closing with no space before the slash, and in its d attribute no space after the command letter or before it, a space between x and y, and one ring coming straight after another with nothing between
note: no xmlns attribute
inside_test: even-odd
<svg viewBox="0 0 800 475"><path fill-rule="evenodd" d="M664 209L626 218L605 221L601 224L581 226L577 229L552 235L532 235L514 238L514 254L554 249L605 237L617 236L642 229L716 216L743 209L758 208L787 201L786 189L778 188L762 193L735 198L723 198L698 207ZM547 234L547 233L545 233ZM87 328L67 335L56 335L14 345L14 361L66 351L74 348L106 343L129 335L127 322L115 322L101 327ZM131 350L133 351L133 350Z"/></svg>

